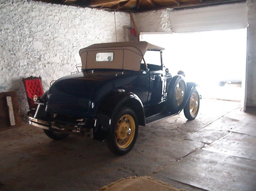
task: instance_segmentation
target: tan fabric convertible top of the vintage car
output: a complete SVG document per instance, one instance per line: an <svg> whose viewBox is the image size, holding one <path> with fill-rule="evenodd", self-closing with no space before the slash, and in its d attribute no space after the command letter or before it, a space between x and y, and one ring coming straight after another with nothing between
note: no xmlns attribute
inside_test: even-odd
<svg viewBox="0 0 256 191"><path fill-rule="evenodd" d="M164 50L145 41L93 44L79 50L82 69L110 68L139 71L141 59L147 50ZM110 61L96 61L97 53L113 53ZM147 62L147 61L146 61Z"/></svg>

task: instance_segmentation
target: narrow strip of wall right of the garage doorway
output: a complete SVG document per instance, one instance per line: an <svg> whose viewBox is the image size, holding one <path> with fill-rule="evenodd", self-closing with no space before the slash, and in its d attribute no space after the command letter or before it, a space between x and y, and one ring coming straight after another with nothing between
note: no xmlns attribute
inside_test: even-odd
<svg viewBox="0 0 256 191"><path fill-rule="evenodd" d="M256 0L247 0L247 7L246 109L256 107Z"/></svg>

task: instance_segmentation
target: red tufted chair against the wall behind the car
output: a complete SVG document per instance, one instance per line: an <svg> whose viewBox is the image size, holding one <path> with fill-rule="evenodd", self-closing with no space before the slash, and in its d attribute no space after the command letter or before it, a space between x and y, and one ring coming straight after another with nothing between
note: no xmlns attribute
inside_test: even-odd
<svg viewBox="0 0 256 191"><path fill-rule="evenodd" d="M30 76L28 78L22 78L26 95L27 95L28 106L30 110L27 112L28 116L34 115L36 113L37 105L34 104L34 100L33 100L34 95L38 95L39 97L43 95L43 87L42 87L41 79L42 79L41 76L39 77Z"/></svg>

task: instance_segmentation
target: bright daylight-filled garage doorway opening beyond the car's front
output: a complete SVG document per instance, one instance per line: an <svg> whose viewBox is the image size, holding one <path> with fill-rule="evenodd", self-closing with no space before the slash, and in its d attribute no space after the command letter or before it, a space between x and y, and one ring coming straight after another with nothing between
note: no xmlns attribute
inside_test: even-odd
<svg viewBox="0 0 256 191"><path fill-rule="evenodd" d="M142 33L140 40L164 47L163 63L170 73L184 71L186 81L200 85L203 98L243 101L247 29Z"/></svg>

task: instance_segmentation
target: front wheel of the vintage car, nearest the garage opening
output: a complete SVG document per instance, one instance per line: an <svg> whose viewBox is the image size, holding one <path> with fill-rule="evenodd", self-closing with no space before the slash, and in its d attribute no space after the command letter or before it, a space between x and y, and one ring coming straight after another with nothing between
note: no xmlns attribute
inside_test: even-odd
<svg viewBox="0 0 256 191"><path fill-rule="evenodd" d="M194 89L189 100L184 107L184 115L188 120L193 120L198 115L200 106L200 97L198 91Z"/></svg>

